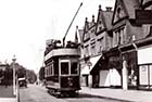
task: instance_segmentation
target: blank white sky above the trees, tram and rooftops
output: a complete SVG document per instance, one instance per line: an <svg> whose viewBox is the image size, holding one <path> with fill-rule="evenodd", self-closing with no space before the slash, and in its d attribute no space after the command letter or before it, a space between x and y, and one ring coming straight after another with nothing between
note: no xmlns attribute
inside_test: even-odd
<svg viewBox="0 0 152 102"><path fill-rule="evenodd" d="M66 40L74 40L76 26L97 18L99 4L114 7L115 0L0 0L0 61L16 62L38 73L47 39L62 40L80 2Z"/></svg>

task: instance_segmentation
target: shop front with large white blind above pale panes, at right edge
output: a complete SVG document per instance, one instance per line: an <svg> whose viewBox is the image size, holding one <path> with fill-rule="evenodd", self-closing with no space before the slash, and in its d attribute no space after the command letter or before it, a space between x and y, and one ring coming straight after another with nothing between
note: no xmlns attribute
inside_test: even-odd
<svg viewBox="0 0 152 102"><path fill-rule="evenodd" d="M152 46L138 50L139 89L152 90Z"/></svg>

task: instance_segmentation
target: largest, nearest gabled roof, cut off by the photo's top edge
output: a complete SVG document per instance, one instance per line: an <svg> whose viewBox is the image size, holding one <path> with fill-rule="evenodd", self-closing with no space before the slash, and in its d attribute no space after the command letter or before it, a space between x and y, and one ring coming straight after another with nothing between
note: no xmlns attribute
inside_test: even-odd
<svg viewBox="0 0 152 102"><path fill-rule="evenodd" d="M123 18L135 18L135 10L140 7L139 0L116 0L112 24ZM119 10L118 10L119 9ZM119 18L116 18L121 14Z"/></svg>

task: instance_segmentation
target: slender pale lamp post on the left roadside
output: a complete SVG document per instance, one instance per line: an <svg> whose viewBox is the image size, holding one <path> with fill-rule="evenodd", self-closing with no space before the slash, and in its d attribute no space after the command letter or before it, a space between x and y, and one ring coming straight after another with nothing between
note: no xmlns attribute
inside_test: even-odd
<svg viewBox="0 0 152 102"><path fill-rule="evenodd" d="M15 58L15 55L13 55L13 59L12 59L12 61L13 61L13 93L14 93L14 95L16 95L16 81L15 81L15 61L16 61L16 58Z"/></svg>

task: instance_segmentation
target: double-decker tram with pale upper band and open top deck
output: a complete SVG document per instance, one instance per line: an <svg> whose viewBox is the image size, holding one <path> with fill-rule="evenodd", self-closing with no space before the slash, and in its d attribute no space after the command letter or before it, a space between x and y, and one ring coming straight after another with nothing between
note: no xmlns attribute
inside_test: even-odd
<svg viewBox="0 0 152 102"><path fill-rule="evenodd" d="M80 89L79 52L76 44L50 44L45 54L46 88L51 94L71 95Z"/></svg>

